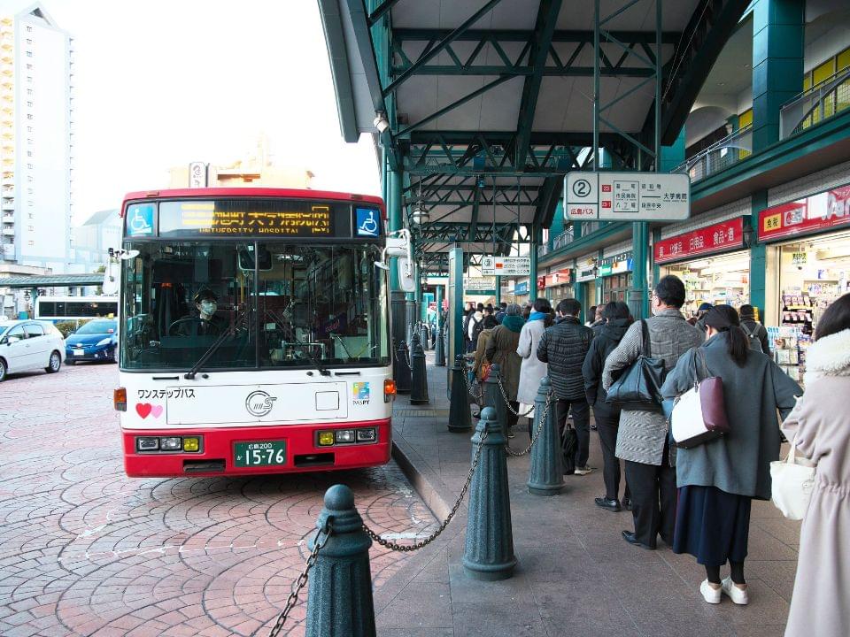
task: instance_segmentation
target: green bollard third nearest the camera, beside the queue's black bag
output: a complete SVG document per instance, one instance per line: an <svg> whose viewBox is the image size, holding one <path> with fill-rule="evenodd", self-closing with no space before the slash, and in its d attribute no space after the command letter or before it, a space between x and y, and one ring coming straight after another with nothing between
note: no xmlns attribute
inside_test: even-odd
<svg viewBox="0 0 850 637"><path fill-rule="evenodd" d="M531 466L529 467L529 494L558 495L564 488L563 459L560 455L560 436L555 422L555 407L557 399L553 396L546 411L546 396L552 390L552 382L548 376L540 381L537 396L534 399L534 426L532 434L540 426L540 418L546 412L546 420L537 441L531 447Z"/></svg>

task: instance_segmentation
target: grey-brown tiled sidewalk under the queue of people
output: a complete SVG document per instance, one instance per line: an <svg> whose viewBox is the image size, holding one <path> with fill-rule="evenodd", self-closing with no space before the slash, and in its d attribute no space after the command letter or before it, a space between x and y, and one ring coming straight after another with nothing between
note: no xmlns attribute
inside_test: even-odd
<svg viewBox="0 0 850 637"><path fill-rule="evenodd" d="M396 401L394 439L412 465L413 481L444 516L466 478L470 434L446 428L445 368L432 365L430 404ZM521 419L522 423L522 419ZM599 437L591 433L591 462L602 466ZM512 441L528 444L526 434ZM405 464L402 459L402 464ZM705 571L691 556L677 556L660 542L655 551L622 540L630 513L593 504L603 495L600 471L566 476L560 496L529 495L528 457L508 458L514 549L512 579L468 579L460 559L466 518L452 523L437 545L419 551L376 595L379 634L401 637L493 635L592 635L593 637L780 637L796 569L800 524L784 519L771 503L753 502L746 577L749 606L728 599L709 606L699 595Z"/></svg>

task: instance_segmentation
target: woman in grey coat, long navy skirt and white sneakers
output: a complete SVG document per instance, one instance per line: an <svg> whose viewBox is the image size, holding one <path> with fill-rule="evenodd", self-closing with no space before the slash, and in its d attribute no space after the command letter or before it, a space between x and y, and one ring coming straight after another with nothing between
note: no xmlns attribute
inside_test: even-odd
<svg viewBox="0 0 850 637"><path fill-rule="evenodd" d="M723 379L730 433L678 449L673 552L690 553L706 567L707 578L699 587L706 602L720 603L723 592L732 602L746 604L750 506L753 498L770 499L770 461L779 458L777 411L786 416L803 390L773 360L750 349L730 305L716 305L704 319L707 341L679 358L661 394L673 398L697 379ZM727 561L731 575L721 581L720 568Z"/></svg>

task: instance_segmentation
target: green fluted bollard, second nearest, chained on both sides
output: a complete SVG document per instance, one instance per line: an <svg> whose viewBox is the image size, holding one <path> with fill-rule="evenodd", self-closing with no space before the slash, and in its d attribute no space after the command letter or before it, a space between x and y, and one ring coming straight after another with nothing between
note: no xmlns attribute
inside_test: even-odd
<svg viewBox="0 0 850 637"><path fill-rule="evenodd" d="M505 436L496 421L496 411L485 407L472 437L472 457L484 431L481 457L469 485L467 541L463 567L472 579L507 579L514 574L514 529L511 499L507 490Z"/></svg>

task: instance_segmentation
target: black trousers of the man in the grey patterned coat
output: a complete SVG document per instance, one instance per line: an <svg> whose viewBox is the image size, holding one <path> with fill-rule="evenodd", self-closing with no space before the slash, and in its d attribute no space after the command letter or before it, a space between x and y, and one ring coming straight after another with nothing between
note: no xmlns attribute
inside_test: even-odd
<svg viewBox="0 0 850 637"><path fill-rule="evenodd" d="M631 514L635 537L655 548L657 536L670 546L676 528L676 467L669 463L668 443L664 443L661 466L626 460L626 482L631 491Z"/></svg>

